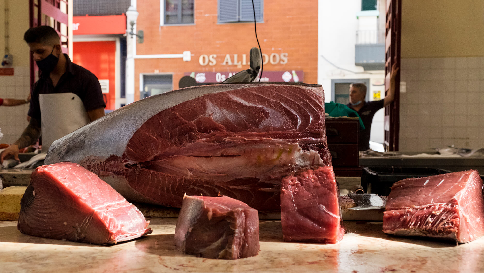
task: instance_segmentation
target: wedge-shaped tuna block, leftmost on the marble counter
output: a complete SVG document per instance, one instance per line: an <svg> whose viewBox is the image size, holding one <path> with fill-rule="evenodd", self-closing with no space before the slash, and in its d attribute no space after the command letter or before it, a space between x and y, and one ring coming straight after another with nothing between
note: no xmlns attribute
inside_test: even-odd
<svg viewBox="0 0 484 273"><path fill-rule="evenodd" d="M76 163L38 167L20 201L20 232L59 240L109 244L151 233L141 212Z"/></svg>

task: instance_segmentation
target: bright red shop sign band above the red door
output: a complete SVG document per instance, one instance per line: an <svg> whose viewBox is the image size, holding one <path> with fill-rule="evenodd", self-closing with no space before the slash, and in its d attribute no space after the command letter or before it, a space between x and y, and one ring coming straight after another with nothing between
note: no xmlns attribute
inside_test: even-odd
<svg viewBox="0 0 484 273"><path fill-rule="evenodd" d="M126 15L73 16L73 35L124 34Z"/></svg>

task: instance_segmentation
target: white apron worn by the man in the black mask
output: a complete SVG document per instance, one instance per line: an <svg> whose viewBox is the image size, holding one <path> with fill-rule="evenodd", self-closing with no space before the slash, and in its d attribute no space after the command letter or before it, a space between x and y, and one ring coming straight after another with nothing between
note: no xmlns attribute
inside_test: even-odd
<svg viewBox="0 0 484 273"><path fill-rule="evenodd" d="M86 108L74 93L39 94L42 152L49 150L52 142L88 124Z"/></svg>

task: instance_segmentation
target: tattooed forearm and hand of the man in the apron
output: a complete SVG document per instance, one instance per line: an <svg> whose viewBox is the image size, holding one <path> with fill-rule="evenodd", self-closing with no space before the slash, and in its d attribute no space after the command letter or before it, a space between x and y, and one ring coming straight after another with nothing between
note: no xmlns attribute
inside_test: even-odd
<svg viewBox="0 0 484 273"><path fill-rule="evenodd" d="M41 134L40 122L34 118L30 118L29 125L25 128L22 136L20 136L14 144L0 153L0 164L3 164L4 159L8 159L14 156L14 159L18 159L18 150L34 144Z"/></svg>

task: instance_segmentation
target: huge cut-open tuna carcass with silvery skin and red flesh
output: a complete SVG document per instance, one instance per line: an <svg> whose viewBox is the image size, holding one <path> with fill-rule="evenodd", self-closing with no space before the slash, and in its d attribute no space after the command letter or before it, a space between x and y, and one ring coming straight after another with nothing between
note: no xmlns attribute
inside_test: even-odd
<svg viewBox="0 0 484 273"><path fill-rule="evenodd" d="M136 101L55 141L45 164L71 161L125 198L181 207L224 196L280 210L281 178L331 165L320 85L230 83Z"/></svg>

